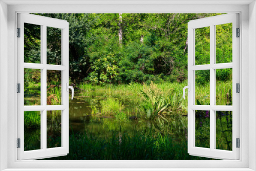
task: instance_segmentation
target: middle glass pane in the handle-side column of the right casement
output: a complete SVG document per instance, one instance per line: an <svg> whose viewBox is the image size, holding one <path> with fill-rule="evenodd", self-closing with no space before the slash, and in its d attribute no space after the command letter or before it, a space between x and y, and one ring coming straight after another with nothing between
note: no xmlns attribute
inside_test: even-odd
<svg viewBox="0 0 256 171"><path fill-rule="evenodd" d="M210 104L210 70L200 70L196 72L196 105Z"/></svg>

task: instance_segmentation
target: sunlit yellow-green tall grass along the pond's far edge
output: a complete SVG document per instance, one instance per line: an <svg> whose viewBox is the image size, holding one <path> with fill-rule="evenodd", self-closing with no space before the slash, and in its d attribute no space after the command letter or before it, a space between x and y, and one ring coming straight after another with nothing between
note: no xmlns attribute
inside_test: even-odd
<svg viewBox="0 0 256 171"><path fill-rule="evenodd" d="M107 108L114 108L114 106L120 106L121 104L123 106L123 109L121 111L126 113L127 116L143 116L146 115L147 112L143 108L142 103L148 102L148 104L152 104L153 100L152 98L146 100L145 96L142 95L143 91L145 91L145 87L148 87L148 93L154 93L154 90L158 90L161 92L161 97L163 101L168 100L168 102L164 102L166 104L168 103L168 109L166 109L168 112L186 113L187 103L186 101L182 100L182 88L184 86L186 86L186 82L164 82L159 84L152 84L151 86L150 84L148 84L147 86L146 84L144 84L144 88L143 84L140 83L120 85L106 84L105 86L92 86L92 84L80 84L77 86L79 90L76 91L76 95L82 99L98 99L98 101L91 101L93 113L95 113L95 111L100 112L101 105L98 104L99 102L100 104L102 104L102 106L104 106L103 111L108 111L105 113L106 115L110 115L110 110ZM149 97L151 95L147 94L146 96ZM157 96L158 95L155 94L153 98ZM144 103L144 105L146 104ZM99 106L99 108L96 108L95 106ZM112 110L112 113L113 112L114 111ZM120 108L115 108L115 112L120 112ZM153 110L150 113L152 112Z"/></svg>

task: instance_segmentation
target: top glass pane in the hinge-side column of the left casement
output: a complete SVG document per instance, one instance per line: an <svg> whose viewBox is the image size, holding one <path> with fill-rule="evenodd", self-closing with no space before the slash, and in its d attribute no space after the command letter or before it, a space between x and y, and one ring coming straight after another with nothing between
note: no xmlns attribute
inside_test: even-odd
<svg viewBox="0 0 256 171"><path fill-rule="evenodd" d="M24 62L41 63L41 26L24 23Z"/></svg>

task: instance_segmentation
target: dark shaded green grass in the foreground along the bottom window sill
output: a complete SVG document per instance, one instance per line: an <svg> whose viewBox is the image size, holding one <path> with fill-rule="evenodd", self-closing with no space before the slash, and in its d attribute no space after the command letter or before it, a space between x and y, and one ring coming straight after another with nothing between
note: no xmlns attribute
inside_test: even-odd
<svg viewBox="0 0 256 171"><path fill-rule="evenodd" d="M202 160L208 158L190 156L187 141L179 142L171 136L141 134L132 135L111 132L111 137L95 137L91 133L70 136L67 156L52 160ZM49 160L49 159L48 159Z"/></svg>

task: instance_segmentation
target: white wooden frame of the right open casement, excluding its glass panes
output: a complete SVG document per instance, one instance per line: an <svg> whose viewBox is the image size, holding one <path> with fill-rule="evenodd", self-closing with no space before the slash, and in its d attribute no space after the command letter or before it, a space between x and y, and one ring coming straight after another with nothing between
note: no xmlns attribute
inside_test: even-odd
<svg viewBox="0 0 256 171"><path fill-rule="evenodd" d="M216 63L216 25L232 23L232 62ZM195 64L195 30L210 28L210 64ZM216 159L239 159L239 148L236 147L236 138L239 138L239 93L236 93L236 83L239 82L239 37L236 37L236 28L239 28L239 14L224 14L188 23L188 153L194 156ZM232 68L232 106L216 105L216 69ZM195 71L210 71L210 105L195 105ZM210 148L197 147L196 142L196 110L210 111ZM232 151L216 149L216 111L232 111Z"/></svg>

